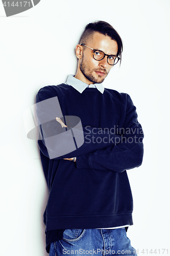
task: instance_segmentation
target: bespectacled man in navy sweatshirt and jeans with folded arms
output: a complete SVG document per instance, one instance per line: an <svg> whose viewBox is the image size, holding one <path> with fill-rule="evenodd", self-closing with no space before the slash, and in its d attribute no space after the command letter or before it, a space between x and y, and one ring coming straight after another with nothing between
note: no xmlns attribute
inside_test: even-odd
<svg viewBox="0 0 170 256"><path fill-rule="evenodd" d="M126 236L133 224L126 169L142 163L143 133L130 96L102 85L122 50L110 24L88 24L76 46L76 75L37 94L38 144L50 192L44 212L50 256L136 255ZM72 125L67 117L78 119ZM82 130L71 128L78 122ZM76 141L81 132L84 143ZM70 136L77 143L73 150ZM61 153L63 145L67 153L65 147Z"/></svg>

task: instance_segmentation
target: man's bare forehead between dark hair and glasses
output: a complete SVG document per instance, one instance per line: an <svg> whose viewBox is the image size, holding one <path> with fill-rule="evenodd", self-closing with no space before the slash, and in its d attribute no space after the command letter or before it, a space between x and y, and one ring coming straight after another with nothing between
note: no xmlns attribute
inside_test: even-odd
<svg viewBox="0 0 170 256"><path fill-rule="evenodd" d="M117 42L109 36L94 32L87 40L87 45L93 49L101 50L106 54L117 54Z"/></svg>

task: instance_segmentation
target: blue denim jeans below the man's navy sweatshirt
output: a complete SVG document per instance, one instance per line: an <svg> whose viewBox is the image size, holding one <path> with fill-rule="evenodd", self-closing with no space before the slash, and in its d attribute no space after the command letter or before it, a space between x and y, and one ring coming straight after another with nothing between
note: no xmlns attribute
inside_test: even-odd
<svg viewBox="0 0 170 256"><path fill-rule="evenodd" d="M50 246L50 256L137 256L125 228L65 229L63 239Z"/></svg>

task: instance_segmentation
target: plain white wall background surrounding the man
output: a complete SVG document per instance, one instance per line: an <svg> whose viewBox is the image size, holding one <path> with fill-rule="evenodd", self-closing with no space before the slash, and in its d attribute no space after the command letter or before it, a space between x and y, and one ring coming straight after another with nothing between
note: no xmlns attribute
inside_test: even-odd
<svg viewBox="0 0 170 256"><path fill-rule="evenodd" d="M1 256L48 255L42 222L47 188L22 114L41 87L75 74L75 46L86 24L99 19L124 43L122 65L112 69L104 86L130 94L145 135L143 164L128 171L134 225L127 234L139 256L147 249L149 255L151 249L170 253L169 11L169 0L41 0L6 17L0 3Z"/></svg>

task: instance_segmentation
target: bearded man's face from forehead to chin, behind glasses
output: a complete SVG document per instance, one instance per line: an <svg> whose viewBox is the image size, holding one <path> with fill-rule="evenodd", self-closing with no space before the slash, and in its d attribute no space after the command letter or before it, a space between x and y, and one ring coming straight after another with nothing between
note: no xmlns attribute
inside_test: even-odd
<svg viewBox="0 0 170 256"><path fill-rule="evenodd" d="M99 32L94 32L92 37L87 40L86 45L90 48L101 50L109 55L117 54L117 42L109 36L105 36ZM101 83L104 81L113 66L107 62L107 56L102 60L93 58L93 50L83 47L83 54L80 59L81 77L85 83Z"/></svg>

